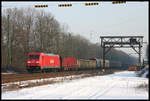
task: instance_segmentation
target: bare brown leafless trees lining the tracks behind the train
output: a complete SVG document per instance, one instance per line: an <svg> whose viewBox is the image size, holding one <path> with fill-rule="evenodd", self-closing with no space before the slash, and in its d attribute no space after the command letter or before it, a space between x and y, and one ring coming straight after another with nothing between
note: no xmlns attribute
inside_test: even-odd
<svg viewBox="0 0 150 101"><path fill-rule="evenodd" d="M100 43L93 44L81 35L67 32L67 27L61 25L50 12L34 8L6 9L2 11L1 25L2 68L26 71L29 52L82 59L102 58ZM135 57L115 49L111 49L106 59L127 64L137 62Z"/></svg>

